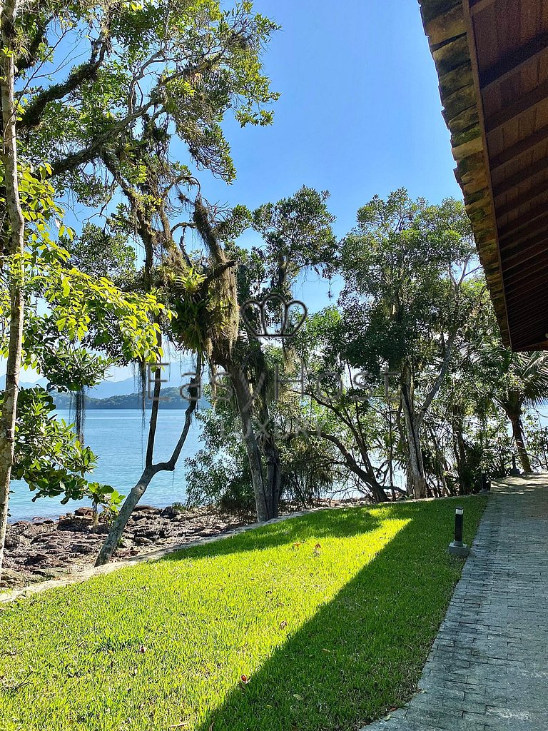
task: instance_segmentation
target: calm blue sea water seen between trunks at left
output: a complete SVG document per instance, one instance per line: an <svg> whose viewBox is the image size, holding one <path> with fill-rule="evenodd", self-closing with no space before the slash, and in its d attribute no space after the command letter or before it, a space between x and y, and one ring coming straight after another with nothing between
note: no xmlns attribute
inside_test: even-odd
<svg viewBox="0 0 548 731"><path fill-rule="evenodd" d="M70 421L69 412L59 411L61 419ZM138 409L89 409L85 414L85 442L99 457L92 479L113 485L127 495L139 479L145 460L146 436L148 433L147 412L145 428ZM160 411L156 431L155 461L170 458L184 423L183 409ZM161 472L149 485L143 504L165 507L185 499L185 458L194 455L200 448L199 428L191 426L189 436L181 452L175 472ZM32 518L57 518L64 512L75 510L79 505L89 505L89 501L70 501L67 505L53 498L41 498L32 502L34 493L29 491L25 482L12 482L12 495L9 499L9 520L31 520Z"/></svg>

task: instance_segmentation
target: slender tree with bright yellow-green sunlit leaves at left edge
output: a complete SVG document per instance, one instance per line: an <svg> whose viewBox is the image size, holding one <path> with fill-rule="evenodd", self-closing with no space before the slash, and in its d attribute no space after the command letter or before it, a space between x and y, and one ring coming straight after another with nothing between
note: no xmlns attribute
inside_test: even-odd
<svg viewBox="0 0 548 731"><path fill-rule="evenodd" d="M0 566L7 525L9 481L17 446L15 394L18 393L20 366L37 369L53 385L64 390L80 390L84 385L94 385L110 365L109 361L90 355L83 348L83 339L89 335L92 319L96 322L96 330L88 340L91 348L96 349L104 341L107 333L103 323L113 319L121 332L121 354L124 358L156 360L158 328L150 317L157 317L161 311L169 316L152 295L123 293L107 279L97 280L67 266L69 254L53 240L56 221L62 217L63 211L53 201L53 188L45 179L47 173L47 168L31 172L20 165L18 188L26 220L24 248L23 252L4 257L0 285L3 325L0 355L7 357L8 362L2 410L4 414L11 414L15 408L13 428L7 435L11 457L7 463L0 463L7 476L4 486L0 485ZM9 224L4 225L0 233L3 241L9 240ZM62 224L58 233L72 235ZM28 309L25 318L18 303L14 305L13 292L19 289L21 301ZM42 303L40 313L28 306L32 300ZM19 330L14 333L14 318L18 321L20 336ZM10 356L13 357L14 343L17 346L18 371L17 377L10 379L9 363L12 362ZM7 451L4 458L8 460ZM68 482L64 482L62 473L59 474L58 484L66 486ZM50 472L52 480L53 477ZM55 491L56 484L53 480L51 491Z"/></svg>

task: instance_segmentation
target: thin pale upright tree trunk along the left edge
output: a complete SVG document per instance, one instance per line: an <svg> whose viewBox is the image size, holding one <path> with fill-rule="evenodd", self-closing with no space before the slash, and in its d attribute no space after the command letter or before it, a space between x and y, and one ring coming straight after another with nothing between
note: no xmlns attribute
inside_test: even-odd
<svg viewBox="0 0 548 731"><path fill-rule="evenodd" d="M15 20L15 0L7 0L1 11L2 47L13 50ZM1 107L4 145L1 159L4 163L6 186L6 207L9 215L11 232L7 254L12 257L22 255L25 247L25 220L21 210L18 181L18 156L15 121L17 113L14 99L15 66L12 53L1 54ZM0 415L0 577L4 558L4 541L7 530L7 512L9 502L9 485L11 480L13 454L15 448L15 417L19 391L19 373L21 351L23 346L23 261L15 262L15 276L9 283L9 346L6 366L6 387L4 402Z"/></svg>

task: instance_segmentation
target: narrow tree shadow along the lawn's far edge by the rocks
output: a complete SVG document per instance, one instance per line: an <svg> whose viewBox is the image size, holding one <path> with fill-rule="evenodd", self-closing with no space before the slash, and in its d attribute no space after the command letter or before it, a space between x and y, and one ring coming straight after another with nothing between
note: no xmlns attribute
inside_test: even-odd
<svg viewBox="0 0 548 731"><path fill-rule="evenodd" d="M383 520L390 517L389 513L379 515L374 508L319 510L299 518L270 523L262 528L245 531L202 546L183 548L164 556L161 561L180 561L186 557L227 556L231 553L276 548L310 539L321 540L325 537L348 538L374 531L381 526Z"/></svg>

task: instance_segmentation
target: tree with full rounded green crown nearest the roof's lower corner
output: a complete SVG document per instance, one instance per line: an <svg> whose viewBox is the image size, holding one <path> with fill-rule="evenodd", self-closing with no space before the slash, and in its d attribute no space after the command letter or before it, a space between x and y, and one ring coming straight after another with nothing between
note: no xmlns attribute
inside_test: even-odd
<svg viewBox="0 0 548 731"><path fill-rule="evenodd" d="M405 190L360 208L342 242L337 270L354 367L397 374L406 434L408 487L426 495L423 423L446 378L466 319L461 292L473 257L463 205L412 201ZM420 389L417 385L420 384Z"/></svg>

